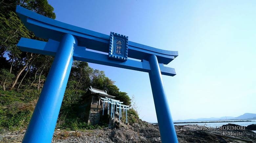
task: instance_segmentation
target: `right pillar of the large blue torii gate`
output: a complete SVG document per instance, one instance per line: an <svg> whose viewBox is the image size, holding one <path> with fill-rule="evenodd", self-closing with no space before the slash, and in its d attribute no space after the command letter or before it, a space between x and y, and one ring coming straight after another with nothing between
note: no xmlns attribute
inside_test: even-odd
<svg viewBox="0 0 256 143"><path fill-rule="evenodd" d="M155 55L150 56L149 63L151 68L151 71L149 72L149 79L157 113L161 140L166 143L169 141L178 143L171 112L163 87L162 75L157 57Z"/></svg>

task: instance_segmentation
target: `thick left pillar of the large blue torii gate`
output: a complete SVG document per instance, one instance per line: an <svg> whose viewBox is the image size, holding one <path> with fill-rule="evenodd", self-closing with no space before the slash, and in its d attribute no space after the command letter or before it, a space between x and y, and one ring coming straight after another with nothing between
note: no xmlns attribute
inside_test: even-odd
<svg viewBox="0 0 256 143"><path fill-rule="evenodd" d="M77 41L64 34L55 54L44 87L36 103L23 143L50 143L73 63Z"/></svg>

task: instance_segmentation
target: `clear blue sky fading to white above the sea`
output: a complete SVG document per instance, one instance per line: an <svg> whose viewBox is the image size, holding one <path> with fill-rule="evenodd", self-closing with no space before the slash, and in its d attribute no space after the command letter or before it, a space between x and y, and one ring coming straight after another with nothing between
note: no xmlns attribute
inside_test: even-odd
<svg viewBox="0 0 256 143"><path fill-rule="evenodd" d="M179 51L167 65L177 75L162 76L174 120L256 113L256 1L48 2L58 21ZM157 121L148 73L89 65L135 95L142 120Z"/></svg>

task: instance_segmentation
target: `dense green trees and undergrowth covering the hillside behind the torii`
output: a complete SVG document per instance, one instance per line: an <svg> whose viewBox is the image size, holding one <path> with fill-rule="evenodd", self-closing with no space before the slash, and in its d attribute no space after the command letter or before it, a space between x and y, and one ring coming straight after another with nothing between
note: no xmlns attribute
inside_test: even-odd
<svg viewBox="0 0 256 143"><path fill-rule="evenodd" d="M43 40L26 29L15 13L16 5L49 18L55 18L47 0L0 1L0 128L26 128L53 62L52 56L22 52L16 46L21 37ZM80 96L92 86L107 90L126 105L131 99L119 91L115 82L104 71L92 69L86 62L74 61L61 105L57 127L66 129L93 129L79 119L76 106Z"/></svg>

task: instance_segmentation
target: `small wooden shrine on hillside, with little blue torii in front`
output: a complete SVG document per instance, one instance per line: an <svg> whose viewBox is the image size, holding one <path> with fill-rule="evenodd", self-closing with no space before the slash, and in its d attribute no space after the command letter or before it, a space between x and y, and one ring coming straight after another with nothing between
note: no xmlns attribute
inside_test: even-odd
<svg viewBox="0 0 256 143"><path fill-rule="evenodd" d="M84 96L81 96L82 104L79 106L80 117L91 125L106 123L109 127L121 124L122 111L125 113L127 123L127 110L129 106L115 100L115 96L107 91L89 87Z"/></svg>

